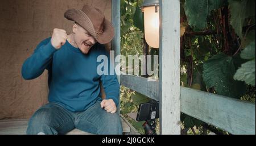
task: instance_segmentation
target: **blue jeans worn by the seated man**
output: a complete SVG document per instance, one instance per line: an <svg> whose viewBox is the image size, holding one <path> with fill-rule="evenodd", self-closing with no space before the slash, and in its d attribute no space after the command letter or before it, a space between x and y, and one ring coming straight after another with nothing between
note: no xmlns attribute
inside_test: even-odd
<svg viewBox="0 0 256 146"><path fill-rule="evenodd" d="M74 128L92 134L122 134L118 112L106 112L100 102L82 112L71 112L57 103L47 103L32 115L27 134L66 134Z"/></svg>

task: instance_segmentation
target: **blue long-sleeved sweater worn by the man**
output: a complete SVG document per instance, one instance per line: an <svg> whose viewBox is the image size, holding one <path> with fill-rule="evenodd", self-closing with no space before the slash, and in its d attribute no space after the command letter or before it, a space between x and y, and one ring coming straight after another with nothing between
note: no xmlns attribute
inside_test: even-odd
<svg viewBox="0 0 256 146"><path fill-rule="evenodd" d="M119 103L119 83L116 75L98 75L97 62L99 55L109 53L101 44L94 44L87 55L68 41L55 49L51 37L43 40L22 66L22 76L25 80L39 77L44 69L48 70L48 101L55 102L73 112L84 111L97 101L101 101L100 81L106 93L106 99ZM104 61L104 60L103 60ZM106 61L103 62L106 64ZM113 67L113 66L112 66ZM110 71L109 71L110 72Z"/></svg>

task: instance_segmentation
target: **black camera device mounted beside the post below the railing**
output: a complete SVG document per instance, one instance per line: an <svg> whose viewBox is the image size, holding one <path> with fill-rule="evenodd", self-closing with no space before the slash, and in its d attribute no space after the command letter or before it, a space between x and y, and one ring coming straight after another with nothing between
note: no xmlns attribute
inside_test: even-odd
<svg viewBox="0 0 256 146"><path fill-rule="evenodd" d="M142 126L146 135L155 135L156 122L159 118L159 101L141 103L137 114L137 121L146 121Z"/></svg>

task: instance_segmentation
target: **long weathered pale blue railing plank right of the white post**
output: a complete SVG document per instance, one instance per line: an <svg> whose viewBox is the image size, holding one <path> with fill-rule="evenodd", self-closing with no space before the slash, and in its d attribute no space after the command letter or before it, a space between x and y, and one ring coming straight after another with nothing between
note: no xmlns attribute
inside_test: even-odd
<svg viewBox="0 0 256 146"><path fill-rule="evenodd" d="M181 111L231 134L255 135L255 104L181 87Z"/></svg>

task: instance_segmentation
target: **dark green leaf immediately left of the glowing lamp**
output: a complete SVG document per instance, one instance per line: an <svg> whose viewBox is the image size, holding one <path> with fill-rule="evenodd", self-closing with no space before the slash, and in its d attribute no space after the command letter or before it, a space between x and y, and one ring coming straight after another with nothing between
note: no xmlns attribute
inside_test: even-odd
<svg viewBox="0 0 256 146"><path fill-rule="evenodd" d="M133 16L133 24L135 27L139 28L142 32L144 32L144 18L141 9L137 6L134 16Z"/></svg>

